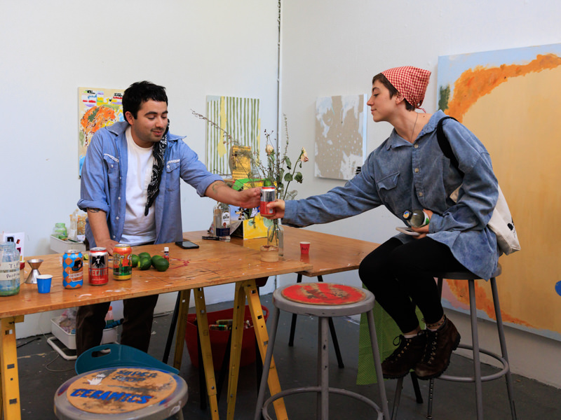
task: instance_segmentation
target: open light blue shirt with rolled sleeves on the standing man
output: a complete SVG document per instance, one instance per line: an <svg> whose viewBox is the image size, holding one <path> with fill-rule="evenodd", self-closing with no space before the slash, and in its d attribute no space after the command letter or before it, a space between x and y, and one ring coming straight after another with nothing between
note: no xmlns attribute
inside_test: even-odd
<svg viewBox="0 0 561 420"><path fill-rule="evenodd" d="M126 213L127 140L128 123L115 123L98 130L88 146L82 168L78 207L100 209L107 213L109 235L120 241ZM160 192L150 211L156 211L156 244L182 240L180 181L196 188L203 197L205 190L222 177L211 174L197 154L182 140L168 134ZM95 246L93 233L86 223L86 237Z"/></svg>

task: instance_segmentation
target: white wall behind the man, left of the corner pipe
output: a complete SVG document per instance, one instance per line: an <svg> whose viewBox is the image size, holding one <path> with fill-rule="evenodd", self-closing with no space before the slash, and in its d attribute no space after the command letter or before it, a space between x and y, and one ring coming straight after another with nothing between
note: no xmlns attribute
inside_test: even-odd
<svg viewBox="0 0 561 420"><path fill-rule="evenodd" d="M262 127L276 131L277 20L276 1L2 1L0 231L25 232L26 255L42 255L54 224L69 223L79 86L165 86L171 132L203 160L205 123L191 109L204 114L208 94L261 99ZM182 186L183 230L208 228L213 203ZM211 288L208 302L232 290ZM173 302L163 295L156 311ZM48 332L50 316L28 316L18 337Z"/></svg>

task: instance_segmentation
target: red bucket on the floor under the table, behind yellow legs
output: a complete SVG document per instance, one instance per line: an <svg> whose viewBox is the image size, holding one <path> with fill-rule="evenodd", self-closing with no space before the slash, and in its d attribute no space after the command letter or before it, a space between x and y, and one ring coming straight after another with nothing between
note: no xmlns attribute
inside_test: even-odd
<svg viewBox="0 0 561 420"><path fill-rule="evenodd" d="M262 306L263 316L265 321L269 318L269 309ZM224 309L222 311L208 312L208 325L216 323L219 319L231 319L234 316L234 309ZM185 343L187 344L187 351L189 351L189 358L191 364L198 367L198 348L197 348L197 326L195 324L196 314L187 315L187 327L185 328ZM240 366L251 365L255 362L255 331L253 330L253 323L251 319L250 307L245 305L244 321L250 321L250 328L243 329L243 339L241 345L241 358ZM222 360L226 353L228 344L228 337L230 331L209 330L210 335L210 349L212 350L212 363L215 370L222 367Z"/></svg>

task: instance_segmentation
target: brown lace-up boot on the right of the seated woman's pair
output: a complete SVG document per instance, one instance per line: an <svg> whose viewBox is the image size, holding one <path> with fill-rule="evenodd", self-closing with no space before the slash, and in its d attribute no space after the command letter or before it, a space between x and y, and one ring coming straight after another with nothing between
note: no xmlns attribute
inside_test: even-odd
<svg viewBox="0 0 561 420"><path fill-rule="evenodd" d="M422 360L417 363L415 373L419 379L439 377L450 365L452 351L460 344L460 334L452 321L445 318L438 330L426 332L426 346Z"/></svg>

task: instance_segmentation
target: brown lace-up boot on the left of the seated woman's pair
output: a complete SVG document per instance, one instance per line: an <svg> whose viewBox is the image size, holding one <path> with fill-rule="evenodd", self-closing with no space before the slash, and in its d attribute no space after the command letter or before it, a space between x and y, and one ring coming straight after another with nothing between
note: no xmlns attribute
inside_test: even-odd
<svg viewBox="0 0 561 420"><path fill-rule="evenodd" d="M412 338L405 338L403 335L396 337L399 340L398 348L381 364L384 378L398 379L409 373L423 358L425 337L424 331Z"/></svg>

